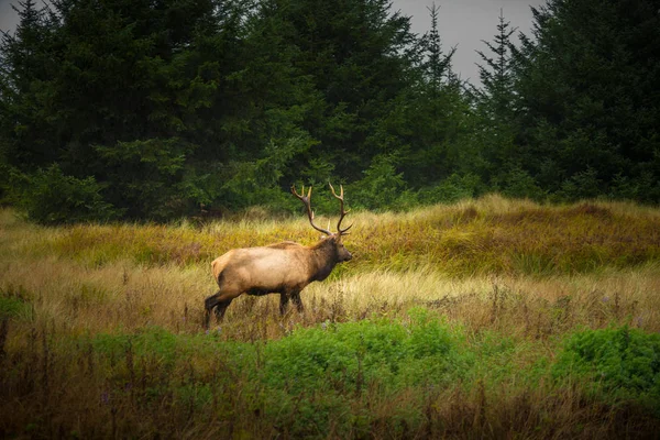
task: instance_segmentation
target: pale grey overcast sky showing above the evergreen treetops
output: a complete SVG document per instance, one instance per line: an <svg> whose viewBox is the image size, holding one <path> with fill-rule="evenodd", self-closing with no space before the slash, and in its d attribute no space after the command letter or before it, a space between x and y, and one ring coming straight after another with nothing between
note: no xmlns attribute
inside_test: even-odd
<svg viewBox="0 0 660 440"><path fill-rule="evenodd" d="M329 0L332 1L332 0ZM453 58L453 67L462 79L479 81L477 68L480 62L475 50L486 51L482 40L493 41L496 32L499 10L512 22L512 26L529 33L531 11L529 6L543 4L544 0L436 0L440 8L438 29L444 51L458 46ZM18 15L11 9L11 3L18 0L0 0L0 29L13 30ZM427 8L433 0L393 0L392 9L411 16L413 32L422 34L430 28L430 16Z"/></svg>

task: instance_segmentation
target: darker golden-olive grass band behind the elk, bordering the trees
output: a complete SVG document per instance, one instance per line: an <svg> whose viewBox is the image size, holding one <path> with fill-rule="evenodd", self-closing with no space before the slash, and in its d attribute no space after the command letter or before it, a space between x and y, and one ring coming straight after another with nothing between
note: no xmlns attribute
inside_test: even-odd
<svg viewBox="0 0 660 440"><path fill-rule="evenodd" d="M7 216L6 216L7 217ZM554 275L626 268L660 258L660 216L626 204L539 206L496 196L408 213L352 215L348 273L432 267L450 276ZM323 219L320 219L323 222ZM91 267L117 261L148 266L206 264L233 248L283 240L311 244L305 218L220 221L201 227L3 227L4 254L58 255ZM43 232L40 232L43 231Z"/></svg>

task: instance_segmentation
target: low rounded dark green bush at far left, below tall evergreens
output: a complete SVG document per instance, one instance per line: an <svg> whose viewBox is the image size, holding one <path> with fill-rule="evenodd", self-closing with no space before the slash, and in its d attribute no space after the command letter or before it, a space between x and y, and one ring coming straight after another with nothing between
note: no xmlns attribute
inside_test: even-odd
<svg viewBox="0 0 660 440"><path fill-rule="evenodd" d="M94 177L65 175L53 164L34 175L14 175L11 198L26 217L42 224L108 221L120 213L106 202Z"/></svg>

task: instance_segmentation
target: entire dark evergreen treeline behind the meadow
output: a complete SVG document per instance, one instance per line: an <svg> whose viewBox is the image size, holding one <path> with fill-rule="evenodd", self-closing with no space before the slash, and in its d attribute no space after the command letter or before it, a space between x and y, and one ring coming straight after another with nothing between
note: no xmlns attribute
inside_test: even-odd
<svg viewBox="0 0 660 440"><path fill-rule="evenodd" d="M436 7L418 36L387 0L41 4L0 44L0 197L36 221L294 210L329 180L367 209L660 201L658 0L495 16L479 86Z"/></svg>

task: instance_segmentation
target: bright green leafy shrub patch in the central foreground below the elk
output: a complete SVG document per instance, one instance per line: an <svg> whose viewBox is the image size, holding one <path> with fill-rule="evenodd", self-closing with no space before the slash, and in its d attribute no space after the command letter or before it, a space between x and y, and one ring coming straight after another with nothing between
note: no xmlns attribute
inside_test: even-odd
<svg viewBox="0 0 660 440"><path fill-rule="evenodd" d="M410 322L362 320L300 329L264 352L265 381L297 391L356 392L377 382L392 389L458 374L460 334L426 310Z"/></svg>

